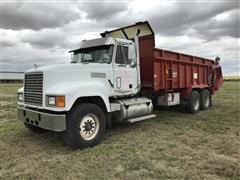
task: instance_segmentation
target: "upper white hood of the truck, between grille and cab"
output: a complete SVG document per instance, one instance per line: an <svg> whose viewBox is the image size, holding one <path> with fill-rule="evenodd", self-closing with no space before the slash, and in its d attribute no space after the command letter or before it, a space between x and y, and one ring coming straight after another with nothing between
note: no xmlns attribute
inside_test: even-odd
<svg viewBox="0 0 240 180"><path fill-rule="evenodd" d="M43 89L67 83L88 84L89 82L106 83L111 79L111 64L61 64L31 69L26 73L43 72Z"/></svg>

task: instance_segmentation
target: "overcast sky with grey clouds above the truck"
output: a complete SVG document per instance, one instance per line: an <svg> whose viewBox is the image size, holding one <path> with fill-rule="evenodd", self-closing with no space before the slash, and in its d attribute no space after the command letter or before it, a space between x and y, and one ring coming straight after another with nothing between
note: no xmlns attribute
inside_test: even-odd
<svg viewBox="0 0 240 180"><path fill-rule="evenodd" d="M240 75L239 1L1 1L1 71L69 63L84 39L148 20L156 47L214 59Z"/></svg>

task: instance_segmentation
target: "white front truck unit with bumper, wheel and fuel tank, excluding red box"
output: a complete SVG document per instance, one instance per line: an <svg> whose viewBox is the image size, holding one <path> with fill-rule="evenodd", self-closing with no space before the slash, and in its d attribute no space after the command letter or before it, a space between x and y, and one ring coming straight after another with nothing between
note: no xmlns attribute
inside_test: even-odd
<svg viewBox="0 0 240 180"><path fill-rule="evenodd" d="M135 41L135 42L134 42ZM155 117L141 88L138 37L84 40L69 64L31 69L18 90L18 117L34 132L64 132L72 148L97 144L112 121Z"/></svg>

